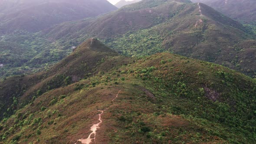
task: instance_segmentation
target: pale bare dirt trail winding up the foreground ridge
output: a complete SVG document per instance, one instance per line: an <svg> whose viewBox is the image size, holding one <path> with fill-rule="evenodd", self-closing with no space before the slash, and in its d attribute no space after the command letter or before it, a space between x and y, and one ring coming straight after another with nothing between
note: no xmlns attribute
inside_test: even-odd
<svg viewBox="0 0 256 144"><path fill-rule="evenodd" d="M92 44L92 43L91 43ZM121 87L121 89L122 89L123 87ZM115 101L115 99L116 98L118 98L118 94L119 94L119 92L121 92L121 89L119 89L119 91L118 91L118 93L117 93L117 95L115 96L115 98L113 98L112 99L112 101ZM113 103L114 104L114 103ZM108 108L110 108L111 107L111 105L108 107ZM101 113L100 114L98 114L98 116L99 116L99 118L98 118L98 120L100 121L99 123L97 123L97 124L93 124L92 125L92 127L91 127L91 131L92 131L92 133L86 138L86 139L79 139L79 140L77 140L77 141L80 141L82 144L90 144L91 142L93 142L94 141L94 144L96 144L96 131L97 131L97 129L98 128L100 128L99 127L99 124L101 124L102 123L102 119L101 119L101 115L104 113L104 111L106 111L108 108L106 108L105 110L103 110L103 111L100 111ZM77 144L77 142L75 143L75 144Z"/></svg>

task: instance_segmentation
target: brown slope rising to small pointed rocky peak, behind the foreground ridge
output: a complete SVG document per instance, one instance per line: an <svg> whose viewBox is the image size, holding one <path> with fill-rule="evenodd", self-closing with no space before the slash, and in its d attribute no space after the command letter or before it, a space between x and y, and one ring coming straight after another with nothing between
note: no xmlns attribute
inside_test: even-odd
<svg viewBox="0 0 256 144"><path fill-rule="evenodd" d="M39 96L43 92L77 82L89 75L93 75L95 72L105 71L111 65L118 65L119 62L125 63L127 59L121 58L118 58L119 62L116 59L112 59L112 62L109 62L111 57L117 55L117 52L109 49L97 39L91 38L79 45L71 55L47 71L36 73L35 75L16 76L6 79L0 84L0 115L3 115L4 112L11 114L12 110L14 111L17 107L23 106L31 98ZM11 89L13 91L10 91ZM13 105L13 97L20 98L20 105ZM10 107L12 107L10 111L7 111L7 108Z"/></svg>

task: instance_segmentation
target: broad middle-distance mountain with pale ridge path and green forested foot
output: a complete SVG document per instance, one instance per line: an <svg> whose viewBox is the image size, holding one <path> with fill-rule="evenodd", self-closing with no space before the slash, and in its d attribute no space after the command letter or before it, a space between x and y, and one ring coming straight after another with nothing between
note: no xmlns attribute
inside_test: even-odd
<svg viewBox="0 0 256 144"><path fill-rule="evenodd" d="M3 36L0 42L36 51L27 56L29 61L17 62L18 66L0 62L0 76L47 70L69 55L73 46L90 37L100 38L125 56L167 51L225 65L251 77L256 72L255 35L241 23L203 3L142 0L112 13L64 22L40 33ZM10 52L3 55L12 57Z"/></svg>

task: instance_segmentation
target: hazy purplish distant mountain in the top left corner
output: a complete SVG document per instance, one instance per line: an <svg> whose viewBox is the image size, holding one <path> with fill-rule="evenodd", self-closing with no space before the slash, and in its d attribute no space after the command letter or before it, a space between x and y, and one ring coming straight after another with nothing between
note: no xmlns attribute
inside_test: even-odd
<svg viewBox="0 0 256 144"><path fill-rule="evenodd" d="M107 0L0 0L0 35L18 30L38 32L116 9Z"/></svg>

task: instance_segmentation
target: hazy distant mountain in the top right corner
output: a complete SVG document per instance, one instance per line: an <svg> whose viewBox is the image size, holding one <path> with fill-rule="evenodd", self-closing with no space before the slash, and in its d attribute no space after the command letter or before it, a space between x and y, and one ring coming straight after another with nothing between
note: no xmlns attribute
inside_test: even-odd
<svg viewBox="0 0 256 144"><path fill-rule="evenodd" d="M197 2L198 0L192 1ZM234 20L256 25L255 0L200 0L200 2L213 7Z"/></svg>

